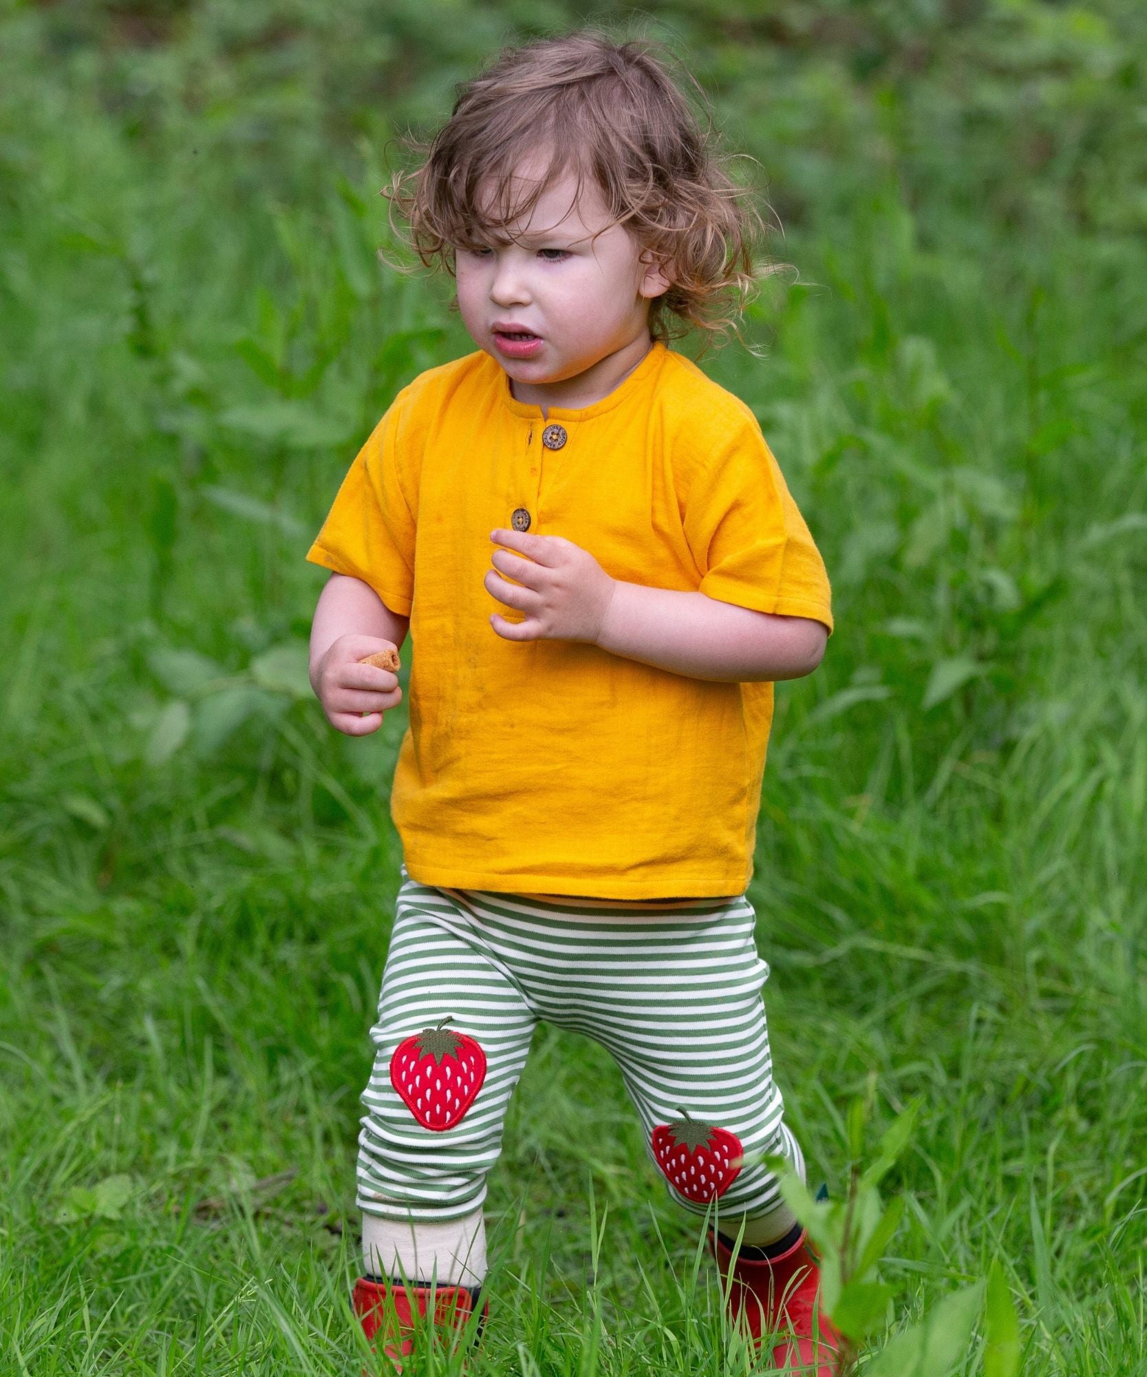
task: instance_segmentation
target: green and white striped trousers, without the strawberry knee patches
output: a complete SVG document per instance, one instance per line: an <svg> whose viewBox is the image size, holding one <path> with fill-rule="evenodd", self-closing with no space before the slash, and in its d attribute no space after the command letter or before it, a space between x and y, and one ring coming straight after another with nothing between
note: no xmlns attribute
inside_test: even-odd
<svg viewBox="0 0 1147 1377"><path fill-rule="evenodd" d="M651 1158L653 1128L685 1108L736 1133L747 1155L781 1153L803 1165L781 1121L761 1000L769 967L745 896L635 913L403 877L363 1092L360 1209L436 1223L481 1205L538 1022L585 1033L613 1055ZM435 1132L391 1085L391 1058L443 1018L477 1040L487 1074L458 1125ZM707 1212L666 1184L686 1209ZM718 1209L755 1219L777 1201L776 1179L747 1165Z"/></svg>

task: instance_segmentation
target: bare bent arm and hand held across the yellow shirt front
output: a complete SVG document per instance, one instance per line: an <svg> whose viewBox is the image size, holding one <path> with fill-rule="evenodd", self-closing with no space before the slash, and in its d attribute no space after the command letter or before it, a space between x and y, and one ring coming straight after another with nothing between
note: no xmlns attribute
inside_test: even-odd
<svg viewBox="0 0 1147 1377"><path fill-rule="evenodd" d="M525 614L520 622L496 613L490 618L506 640L583 640L693 679L740 683L799 679L824 655L828 628L809 617L777 617L703 592L623 582L561 536L499 529L491 540L520 551L495 549L485 574L487 591Z"/></svg>

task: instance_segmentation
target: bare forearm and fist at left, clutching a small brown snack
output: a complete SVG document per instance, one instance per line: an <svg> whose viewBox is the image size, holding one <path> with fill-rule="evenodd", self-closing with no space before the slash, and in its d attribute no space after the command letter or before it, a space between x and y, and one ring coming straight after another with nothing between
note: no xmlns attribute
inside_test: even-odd
<svg viewBox="0 0 1147 1377"><path fill-rule="evenodd" d="M406 640L400 617L360 578L331 574L311 622L311 687L331 727L366 737L382 726L382 713L402 701L397 675L360 665L364 655Z"/></svg>

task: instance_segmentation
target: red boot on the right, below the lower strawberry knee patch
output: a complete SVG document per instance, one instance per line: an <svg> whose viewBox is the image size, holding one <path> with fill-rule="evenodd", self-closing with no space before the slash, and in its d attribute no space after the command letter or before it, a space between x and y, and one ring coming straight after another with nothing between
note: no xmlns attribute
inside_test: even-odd
<svg viewBox="0 0 1147 1377"><path fill-rule="evenodd" d="M835 1377L840 1336L818 1307L821 1270L803 1234L780 1257L758 1261L737 1257L710 1234L721 1276L729 1285L729 1314L755 1343L762 1334L788 1333L773 1349L773 1363L785 1373Z"/></svg>

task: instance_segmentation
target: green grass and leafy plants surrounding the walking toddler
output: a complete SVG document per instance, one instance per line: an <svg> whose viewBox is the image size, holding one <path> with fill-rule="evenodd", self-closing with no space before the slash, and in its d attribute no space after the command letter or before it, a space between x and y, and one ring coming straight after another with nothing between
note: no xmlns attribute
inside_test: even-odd
<svg viewBox="0 0 1147 1377"><path fill-rule="evenodd" d="M263 47L226 6L114 14L3 19L0 1366L356 1371L404 723L323 723L303 554L393 390L469 347L375 264L373 191L386 121L491 37L463 11L447 59L429 7L425 72L356 128L319 11ZM765 362L703 366L756 409L839 625L778 691L750 891L778 1077L833 1192L868 1075L877 1121L921 1096L890 1332L998 1259L1033 1377L1147 1371L1147 274L1132 182L1107 207L1071 161L1130 157L1133 80L1096 63L1141 59L1092 14L1026 179L1007 110L931 149L937 69L750 43L773 125L748 40L711 17L696 47L800 270L752 308ZM946 33L996 109L1007 74ZM601 1049L543 1030L506 1144L476 1377L748 1370Z"/></svg>

